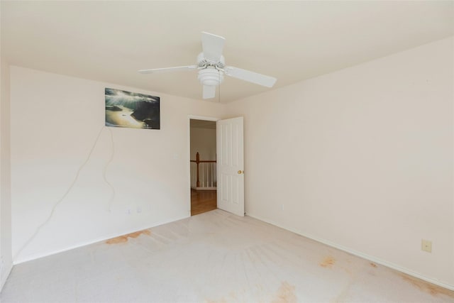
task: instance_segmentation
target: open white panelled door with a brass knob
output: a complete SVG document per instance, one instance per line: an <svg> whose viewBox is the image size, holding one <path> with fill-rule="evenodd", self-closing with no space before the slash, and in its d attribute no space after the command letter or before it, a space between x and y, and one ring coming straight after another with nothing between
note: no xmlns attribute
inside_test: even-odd
<svg viewBox="0 0 454 303"><path fill-rule="evenodd" d="M216 122L218 209L244 216L243 117Z"/></svg>

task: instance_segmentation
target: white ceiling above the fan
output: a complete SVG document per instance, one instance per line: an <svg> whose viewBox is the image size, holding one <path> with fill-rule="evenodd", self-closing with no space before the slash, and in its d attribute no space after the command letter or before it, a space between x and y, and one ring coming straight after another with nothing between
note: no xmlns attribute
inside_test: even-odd
<svg viewBox="0 0 454 303"><path fill-rule="evenodd" d="M12 65L192 99L196 72L136 71L195 64L201 31L275 89L454 35L454 1L1 1ZM267 90L226 77L221 102Z"/></svg>

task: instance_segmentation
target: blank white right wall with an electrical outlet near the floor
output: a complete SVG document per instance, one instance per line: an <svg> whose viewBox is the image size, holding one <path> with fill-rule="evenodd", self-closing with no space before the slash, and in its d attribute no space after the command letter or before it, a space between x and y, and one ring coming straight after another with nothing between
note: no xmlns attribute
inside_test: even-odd
<svg viewBox="0 0 454 303"><path fill-rule="evenodd" d="M246 213L454 287L453 54L449 38L228 104Z"/></svg>

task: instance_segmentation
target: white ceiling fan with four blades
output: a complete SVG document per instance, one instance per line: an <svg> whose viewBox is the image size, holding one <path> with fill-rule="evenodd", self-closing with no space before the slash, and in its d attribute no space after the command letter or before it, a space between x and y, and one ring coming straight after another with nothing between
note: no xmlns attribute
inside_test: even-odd
<svg viewBox="0 0 454 303"><path fill-rule="evenodd" d="M138 72L141 74L153 74L158 72L177 72L180 70L198 70L198 79L204 86L204 99L211 99L216 96L216 86L223 82L224 75L264 87L272 87L275 84L277 79L274 77L243 70L238 67L226 66L226 61L222 55L225 40L220 35L201 32L202 53L197 55L196 65L154 68L151 70L139 70Z"/></svg>

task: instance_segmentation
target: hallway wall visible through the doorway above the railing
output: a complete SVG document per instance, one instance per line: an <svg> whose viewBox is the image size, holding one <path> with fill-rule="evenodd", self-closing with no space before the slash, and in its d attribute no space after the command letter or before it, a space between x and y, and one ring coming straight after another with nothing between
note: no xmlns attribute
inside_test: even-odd
<svg viewBox="0 0 454 303"><path fill-rule="evenodd" d="M216 129L191 128L191 160L197 152L200 160L216 160Z"/></svg>

